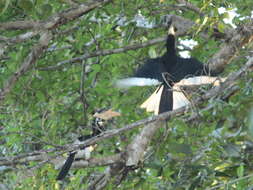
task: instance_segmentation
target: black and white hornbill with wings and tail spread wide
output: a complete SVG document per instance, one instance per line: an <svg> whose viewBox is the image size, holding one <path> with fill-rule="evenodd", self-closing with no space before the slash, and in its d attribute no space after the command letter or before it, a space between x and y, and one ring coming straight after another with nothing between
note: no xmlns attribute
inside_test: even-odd
<svg viewBox="0 0 253 190"><path fill-rule="evenodd" d="M166 40L166 53L148 59L134 77L116 82L117 87L159 85L155 92L141 105L149 112L163 113L189 104L181 85L201 85L214 83L217 78L209 72L208 66L195 58L182 58L176 54L176 28L169 24Z"/></svg>

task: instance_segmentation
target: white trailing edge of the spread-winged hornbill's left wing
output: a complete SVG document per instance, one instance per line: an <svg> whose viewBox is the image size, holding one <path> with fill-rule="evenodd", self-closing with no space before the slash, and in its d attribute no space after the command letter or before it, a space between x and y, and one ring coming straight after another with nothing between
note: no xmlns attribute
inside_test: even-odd
<svg viewBox="0 0 253 190"><path fill-rule="evenodd" d="M154 86L161 84L156 79L131 77L117 80L115 86L118 88L129 88L132 86Z"/></svg>

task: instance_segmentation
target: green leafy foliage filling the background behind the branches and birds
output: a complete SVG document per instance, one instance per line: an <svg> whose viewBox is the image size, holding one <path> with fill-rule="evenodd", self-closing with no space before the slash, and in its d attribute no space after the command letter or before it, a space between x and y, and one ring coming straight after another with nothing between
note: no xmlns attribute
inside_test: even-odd
<svg viewBox="0 0 253 190"><path fill-rule="evenodd" d="M0 2L0 21L43 20L69 7L67 1L6 0ZM85 2L85 1L82 1ZM62 64L65 60L89 54L101 49L115 49L133 43L141 43L165 34L162 28L137 27L135 16L138 11L146 22L159 23L166 14L183 15L185 18L203 23L202 30L210 24L224 28L220 6L236 7L243 16L250 14L251 0L236 1L191 1L210 15L208 20L191 11L172 9L171 1L115 1L101 9L94 10L77 21L69 22L54 31L55 38L50 48L36 65L17 82L4 103L0 106L0 155L13 156L20 153L51 148L50 144L66 144L73 136L87 134L92 113L99 108L113 108L121 112L111 127L122 127L147 116L137 108L151 90L147 88L119 90L113 82L132 74L133 70L149 56L158 56L163 45L141 48L108 56L98 56L78 63ZM212 8L209 4L212 3ZM248 8L244 8L247 4ZM251 4L251 6L249 5ZM2 6L3 5L3 6ZM243 6L242 6L243 5ZM119 24L119 20L121 21ZM2 31L1 35L13 37L24 31ZM218 50L219 41L201 39L192 55L206 62ZM0 87L22 64L36 37L21 44L8 47L0 60ZM241 51L226 69L226 73L240 68L245 63L246 50ZM208 111L200 111L196 121L183 122L177 118L168 122L167 129L161 129L143 165L132 172L121 184L122 189L205 189L215 184L227 184L228 189L246 189L253 184L252 171L252 73L238 81L240 91L227 101L210 100ZM190 113L191 114L191 113ZM106 140L97 152L109 155L117 148L123 149L136 131ZM127 140L126 140L127 139ZM46 144L44 142L47 142ZM115 147L115 148L114 148ZM156 150L156 151L155 151ZM100 156L100 155L97 155ZM27 163L33 168L37 163ZM13 189L60 189L55 181L57 171L50 164L35 172L21 170L6 172L0 179ZM12 168L13 169L13 168ZM83 189L88 176L103 171L103 167L75 171L63 184L69 189ZM25 172L24 172L25 171ZM29 174L29 175L28 175ZM30 177L32 176L32 177ZM233 181L238 179L237 181ZM108 187L110 188L110 187ZM219 188L219 187L217 187ZM224 186L221 186L224 188Z"/></svg>

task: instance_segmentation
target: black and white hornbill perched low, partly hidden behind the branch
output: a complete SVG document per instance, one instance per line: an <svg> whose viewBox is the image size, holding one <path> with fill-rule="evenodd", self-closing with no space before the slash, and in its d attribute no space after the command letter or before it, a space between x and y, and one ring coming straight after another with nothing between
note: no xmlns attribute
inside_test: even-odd
<svg viewBox="0 0 253 190"><path fill-rule="evenodd" d="M92 121L92 133L89 135L80 136L74 144L80 144L81 142L88 140L92 137L95 137L106 130L106 121L110 120L113 117L120 116L118 112L114 112L111 109L109 110L99 110L97 111L93 117ZM63 164L61 171L59 172L57 176L57 180L63 180L66 175L68 174L68 171L71 168L72 163L75 160L78 159L90 159L91 152L94 150L96 145L90 145L90 146L84 146L78 151L73 151L69 153L68 158L66 159L65 163Z"/></svg>

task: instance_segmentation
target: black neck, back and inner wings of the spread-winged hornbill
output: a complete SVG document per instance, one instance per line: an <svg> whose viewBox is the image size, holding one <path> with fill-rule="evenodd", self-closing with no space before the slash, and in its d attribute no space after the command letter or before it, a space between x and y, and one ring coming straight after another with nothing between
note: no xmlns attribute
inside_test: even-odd
<svg viewBox="0 0 253 190"><path fill-rule="evenodd" d="M199 76L208 73L208 68L195 58L182 58L176 54L175 35L168 34L166 53L158 58L148 59L135 73L135 77L153 78L163 82L162 73L168 73L173 82L187 75Z"/></svg>

